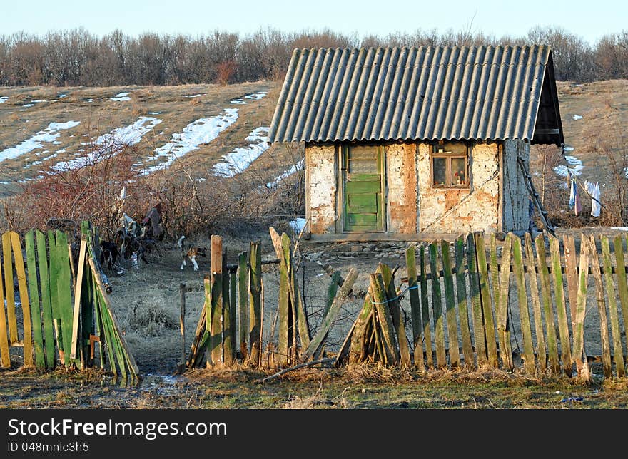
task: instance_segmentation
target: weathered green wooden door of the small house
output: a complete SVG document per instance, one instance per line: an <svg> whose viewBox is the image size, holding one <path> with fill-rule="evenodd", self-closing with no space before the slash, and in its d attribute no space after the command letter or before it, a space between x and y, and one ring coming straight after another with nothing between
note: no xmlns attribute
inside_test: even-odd
<svg viewBox="0 0 628 459"><path fill-rule="evenodd" d="M350 145L343 152L345 232L384 229L383 155L376 145Z"/></svg>

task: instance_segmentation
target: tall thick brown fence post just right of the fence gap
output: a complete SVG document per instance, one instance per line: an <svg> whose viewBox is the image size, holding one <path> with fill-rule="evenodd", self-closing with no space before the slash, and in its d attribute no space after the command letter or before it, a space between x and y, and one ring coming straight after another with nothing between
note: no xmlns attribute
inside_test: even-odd
<svg viewBox="0 0 628 459"><path fill-rule="evenodd" d="M211 363L223 363L223 239L211 237Z"/></svg>

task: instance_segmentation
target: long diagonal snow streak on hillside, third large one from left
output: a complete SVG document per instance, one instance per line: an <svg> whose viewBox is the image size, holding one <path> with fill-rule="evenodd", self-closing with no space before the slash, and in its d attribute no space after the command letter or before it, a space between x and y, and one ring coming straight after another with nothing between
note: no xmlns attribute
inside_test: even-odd
<svg viewBox="0 0 628 459"><path fill-rule="evenodd" d="M200 118L188 124L181 133L174 133L171 141L157 148L154 159L165 158L156 165L142 168L142 174L147 175L156 170L169 167L175 160L183 157L200 145L210 143L218 135L238 120L237 108L226 108L223 113L212 118Z"/></svg>

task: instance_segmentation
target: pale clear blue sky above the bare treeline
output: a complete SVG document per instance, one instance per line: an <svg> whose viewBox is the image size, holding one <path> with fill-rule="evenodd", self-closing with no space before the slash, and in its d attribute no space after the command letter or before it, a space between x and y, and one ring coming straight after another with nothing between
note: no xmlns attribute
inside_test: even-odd
<svg viewBox="0 0 628 459"><path fill-rule="evenodd" d="M619 0L3 0L0 35L83 27L98 36L121 29L198 36L216 29L248 35L260 28L333 29L386 35L436 28L522 36L532 26L560 26L594 44L628 31L628 1Z"/></svg>

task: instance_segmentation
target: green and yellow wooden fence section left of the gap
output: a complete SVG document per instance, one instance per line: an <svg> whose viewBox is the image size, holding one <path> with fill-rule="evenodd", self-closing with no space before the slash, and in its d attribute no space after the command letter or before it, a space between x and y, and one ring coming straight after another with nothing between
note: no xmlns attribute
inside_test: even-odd
<svg viewBox="0 0 628 459"><path fill-rule="evenodd" d="M73 250L66 232L31 230L23 251L19 234L2 235L0 366L11 368L11 348L22 348L24 366L83 369L98 363L116 378L136 381L139 371L109 304L88 222L78 237Z"/></svg>

